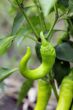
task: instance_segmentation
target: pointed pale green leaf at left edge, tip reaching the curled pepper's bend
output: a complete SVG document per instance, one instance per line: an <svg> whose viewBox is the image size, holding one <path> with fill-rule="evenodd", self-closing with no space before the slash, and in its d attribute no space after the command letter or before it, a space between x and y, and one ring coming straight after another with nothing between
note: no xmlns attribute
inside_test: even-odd
<svg viewBox="0 0 73 110"><path fill-rule="evenodd" d="M17 68L8 69L8 68L0 67L0 82L2 82L4 79L6 79L8 76L10 76L16 70L17 70Z"/></svg>

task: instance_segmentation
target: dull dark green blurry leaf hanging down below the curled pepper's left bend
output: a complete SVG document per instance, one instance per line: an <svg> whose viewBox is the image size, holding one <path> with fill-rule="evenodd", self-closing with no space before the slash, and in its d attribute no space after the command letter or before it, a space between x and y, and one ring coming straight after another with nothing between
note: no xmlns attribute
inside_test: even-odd
<svg viewBox="0 0 73 110"><path fill-rule="evenodd" d="M27 92L32 87L32 85L33 85L33 80L27 79L26 81L23 82L21 89L20 89L20 92L19 92L17 105L20 105L20 103L26 97Z"/></svg>

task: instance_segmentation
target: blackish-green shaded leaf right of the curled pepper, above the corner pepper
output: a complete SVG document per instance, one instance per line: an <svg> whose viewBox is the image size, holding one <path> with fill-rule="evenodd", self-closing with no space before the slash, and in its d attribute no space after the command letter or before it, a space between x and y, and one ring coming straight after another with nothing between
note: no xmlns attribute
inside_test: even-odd
<svg viewBox="0 0 73 110"><path fill-rule="evenodd" d="M69 74L70 64L67 61L59 60L56 58L53 66L54 78L57 80L58 85L61 84L63 78Z"/></svg>

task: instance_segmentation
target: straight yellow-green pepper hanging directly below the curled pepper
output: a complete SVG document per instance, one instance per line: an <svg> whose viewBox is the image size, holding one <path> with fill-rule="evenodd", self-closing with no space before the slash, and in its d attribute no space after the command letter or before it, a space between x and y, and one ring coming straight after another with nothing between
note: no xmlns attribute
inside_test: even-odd
<svg viewBox="0 0 73 110"><path fill-rule="evenodd" d="M38 81L37 104L34 110L46 110L51 95L51 85L43 80Z"/></svg>

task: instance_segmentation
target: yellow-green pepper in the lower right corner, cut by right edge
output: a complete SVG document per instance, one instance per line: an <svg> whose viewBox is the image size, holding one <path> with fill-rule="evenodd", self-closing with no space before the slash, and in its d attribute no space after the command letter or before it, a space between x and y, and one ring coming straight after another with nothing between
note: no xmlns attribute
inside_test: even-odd
<svg viewBox="0 0 73 110"><path fill-rule="evenodd" d="M62 81L59 102L56 110L69 110L73 98L73 69Z"/></svg>

